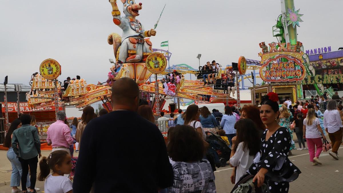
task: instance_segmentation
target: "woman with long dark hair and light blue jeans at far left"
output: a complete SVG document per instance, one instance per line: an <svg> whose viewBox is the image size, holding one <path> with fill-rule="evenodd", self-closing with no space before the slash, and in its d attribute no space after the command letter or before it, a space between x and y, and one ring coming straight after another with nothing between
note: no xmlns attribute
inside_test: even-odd
<svg viewBox="0 0 343 193"><path fill-rule="evenodd" d="M20 189L17 188L17 186L20 186L22 167L21 167L20 161L18 160L12 148L12 133L14 132L15 129L21 126L22 124L19 119L14 120L11 123L10 128L8 129L8 132L5 137L5 141L3 143L3 147L9 148L7 151L7 159L10 160L11 165L12 165L12 174L11 174L11 183L10 183L10 186L12 187L12 193L22 192ZM30 187L30 179L28 175L27 175L27 180L26 180L26 187Z"/></svg>

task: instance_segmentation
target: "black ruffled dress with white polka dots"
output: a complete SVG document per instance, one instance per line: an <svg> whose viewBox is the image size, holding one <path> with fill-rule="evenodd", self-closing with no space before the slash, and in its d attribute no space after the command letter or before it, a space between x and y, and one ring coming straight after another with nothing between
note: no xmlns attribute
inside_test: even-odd
<svg viewBox="0 0 343 193"><path fill-rule="evenodd" d="M247 173L256 175L261 168L268 170L265 174L265 183L271 193L287 193L289 182L296 180L301 171L288 159L291 147L291 135L285 127L280 127L266 141L266 129L261 137L260 158L253 163ZM254 161L255 161L254 160Z"/></svg>

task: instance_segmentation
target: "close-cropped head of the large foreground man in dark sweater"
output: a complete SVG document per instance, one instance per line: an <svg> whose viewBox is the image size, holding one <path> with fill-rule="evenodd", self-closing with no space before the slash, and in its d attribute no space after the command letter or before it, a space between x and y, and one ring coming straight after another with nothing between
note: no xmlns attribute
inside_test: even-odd
<svg viewBox="0 0 343 193"><path fill-rule="evenodd" d="M136 111L139 103L139 88L137 83L131 78L120 78L112 85L113 105L128 106Z"/></svg>

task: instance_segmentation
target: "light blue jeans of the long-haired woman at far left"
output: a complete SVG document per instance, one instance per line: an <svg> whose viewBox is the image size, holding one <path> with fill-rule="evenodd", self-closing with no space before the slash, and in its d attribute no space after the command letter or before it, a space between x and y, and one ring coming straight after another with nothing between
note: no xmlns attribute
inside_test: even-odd
<svg viewBox="0 0 343 193"><path fill-rule="evenodd" d="M20 186L20 180L22 175L22 167L19 162L17 155L14 153L12 147L7 151L7 159L10 160L12 165L12 174L11 174L11 187ZM26 187L30 187L30 180L27 174Z"/></svg>

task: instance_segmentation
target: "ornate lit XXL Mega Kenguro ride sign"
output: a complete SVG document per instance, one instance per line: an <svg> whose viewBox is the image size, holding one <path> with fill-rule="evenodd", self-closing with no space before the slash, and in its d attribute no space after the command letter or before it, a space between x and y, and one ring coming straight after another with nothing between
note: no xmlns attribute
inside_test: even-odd
<svg viewBox="0 0 343 193"><path fill-rule="evenodd" d="M293 48L290 43L270 43L270 49L264 42L260 43L262 52L260 76L265 82L295 82L306 77L306 68L303 65L301 42ZM278 46L278 47L277 47Z"/></svg>

